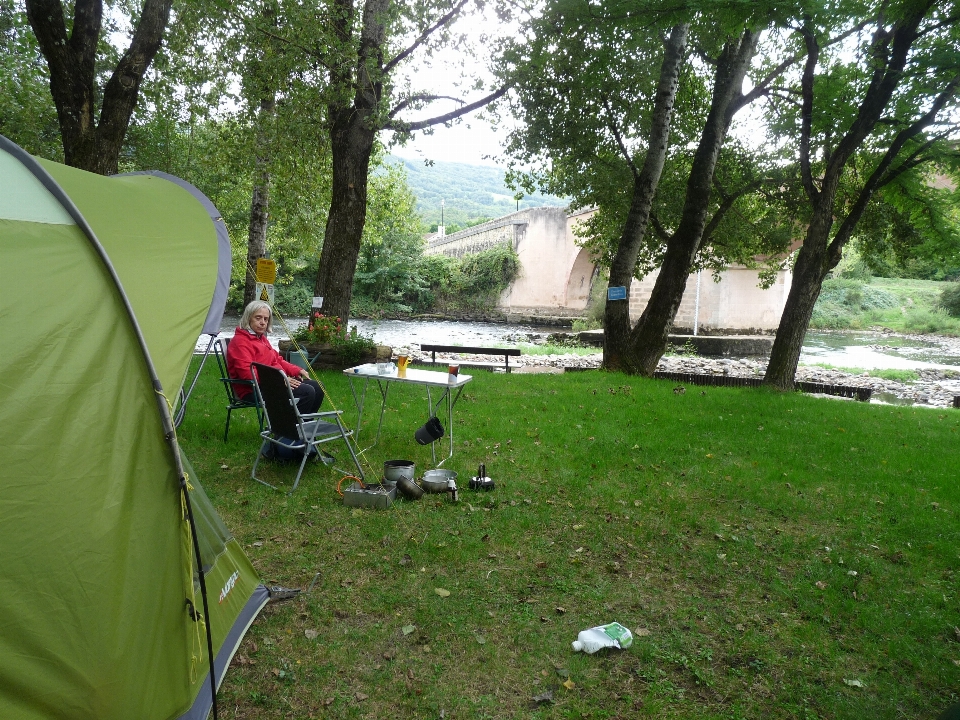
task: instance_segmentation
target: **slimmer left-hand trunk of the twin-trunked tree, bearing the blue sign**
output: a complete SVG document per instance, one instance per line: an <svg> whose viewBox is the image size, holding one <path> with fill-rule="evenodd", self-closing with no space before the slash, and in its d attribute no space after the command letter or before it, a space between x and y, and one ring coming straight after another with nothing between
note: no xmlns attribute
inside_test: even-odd
<svg viewBox="0 0 960 720"><path fill-rule="evenodd" d="M627 290L625 300L607 301L603 313L603 366L608 370L635 372L631 365L629 352L630 338L630 286L637 264L637 255L643 243L650 221L650 208L653 197L660 184L670 138L670 121L673 117L673 105L677 97L677 85L683 53L686 48L689 25L677 25L664 44L663 64L660 79L657 82L657 95L654 100L653 121L651 123L650 144L643 168L639 173L634 169L633 198L630 211L620 235L617 253L610 265L609 287L623 286ZM633 163L626 158L633 169Z"/></svg>

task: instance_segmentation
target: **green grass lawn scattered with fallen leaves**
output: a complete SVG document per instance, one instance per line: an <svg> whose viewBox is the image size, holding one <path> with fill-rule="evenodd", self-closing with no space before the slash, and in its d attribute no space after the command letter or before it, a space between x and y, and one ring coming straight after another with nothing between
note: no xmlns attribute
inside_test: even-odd
<svg viewBox="0 0 960 720"><path fill-rule="evenodd" d="M221 717L859 720L960 699L960 412L477 372L444 465L461 501L373 511L320 465L291 497L250 480L256 423L236 413L224 444L215 373L179 431L200 480L265 582L319 573L253 624ZM320 379L355 422L346 379ZM373 477L431 467L425 416L391 388ZM467 489L481 462L492 493ZM611 621L631 648L571 650Z"/></svg>

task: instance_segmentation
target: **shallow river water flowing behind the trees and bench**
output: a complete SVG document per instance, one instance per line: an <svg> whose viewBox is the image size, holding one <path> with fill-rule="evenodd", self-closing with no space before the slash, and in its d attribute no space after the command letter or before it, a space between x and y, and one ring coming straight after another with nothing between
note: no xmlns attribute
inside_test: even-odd
<svg viewBox="0 0 960 720"><path fill-rule="evenodd" d="M290 332L303 325L304 318L287 319ZM512 345L542 344L547 336L563 328L459 322L451 320L351 320L361 335L373 337L381 345L405 347L411 344L439 345ZM231 337L237 318L225 317L221 335ZM275 326L270 339L274 347L287 337L283 327ZM197 342L198 351L206 347L206 337ZM837 368L862 370L949 369L960 366L960 341L940 336L902 336L878 332L811 331L800 354L802 365L827 364Z"/></svg>

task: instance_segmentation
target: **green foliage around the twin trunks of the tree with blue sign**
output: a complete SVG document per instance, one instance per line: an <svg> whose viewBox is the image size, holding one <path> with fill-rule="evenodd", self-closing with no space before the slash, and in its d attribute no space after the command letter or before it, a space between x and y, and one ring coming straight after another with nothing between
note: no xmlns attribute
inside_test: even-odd
<svg viewBox="0 0 960 720"><path fill-rule="evenodd" d="M511 110L524 120L510 136L509 179L527 191L540 187L569 196L575 209L596 208L576 233L605 267L621 242L634 242L624 237L624 227L635 177L647 159L663 37L670 26L690 22L689 45L700 56L715 58L745 24L763 25L771 10L765 3L732 8L708 3L694 17L665 3L636 7L637 12L623 13L616 0L548 2L542 17L529 23L532 38L507 47L499 65L503 77L517 86ZM681 67L670 147L651 223L640 238L637 278L663 262L666 242L686 211L690 149L700 141L709 109L712 67L692 61ZM782 158L767 155L728 141L716 168L695 267L720 269L737 262L766 267L768 274L779 267L778 254L796 238L797 216L788 202L789 170Z"/></svg>

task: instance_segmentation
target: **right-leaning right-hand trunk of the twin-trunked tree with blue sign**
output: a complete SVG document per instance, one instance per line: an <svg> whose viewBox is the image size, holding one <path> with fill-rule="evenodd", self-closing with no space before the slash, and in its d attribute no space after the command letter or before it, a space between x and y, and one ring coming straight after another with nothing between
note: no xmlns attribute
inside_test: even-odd
<svg viewBox="0 0 960 720"><path fill-rule="evenodd" d="M739 43L728 43L717 61L710 113L690 169L680 226L667 242L653 293L630 334L630 367L640 375L653 375L667 348L667 333L703 239L717 158L733 118L734 102L741 97L757 39L758 33L745 30Z"/></svg>

